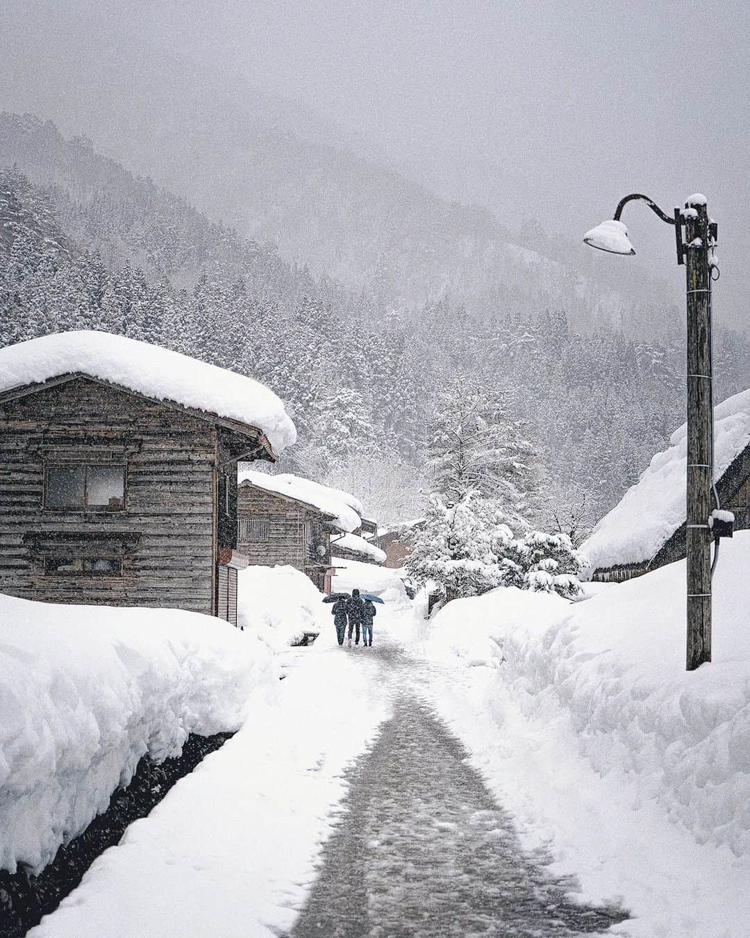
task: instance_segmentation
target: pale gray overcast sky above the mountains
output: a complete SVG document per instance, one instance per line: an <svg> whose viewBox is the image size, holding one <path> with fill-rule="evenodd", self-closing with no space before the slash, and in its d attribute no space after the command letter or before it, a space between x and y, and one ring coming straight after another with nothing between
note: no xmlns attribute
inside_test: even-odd
<svg viewBox="0 0 750 938"><path fill-rule="evenodd" d="M352 131L441 194L577 238L620 196L706 193L725 322L744 324L750 245L750 6L705 0L0 0L0 104L88 132L128 63L200 61ZM3 41L3 40L0 40ZM128 53L133 53L129 55ZM98 95L86 83L103 85ZM131 102L138 113L138 98ZM113 129L113 134L117 129ZM112 148L111 148L112 149ZM673 283L672 234L625 219ZM581 248L581 250L585 250ZM618 262L594 257L582 262Z"/></svg>

